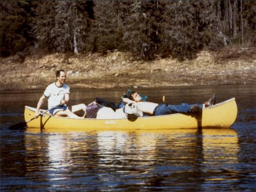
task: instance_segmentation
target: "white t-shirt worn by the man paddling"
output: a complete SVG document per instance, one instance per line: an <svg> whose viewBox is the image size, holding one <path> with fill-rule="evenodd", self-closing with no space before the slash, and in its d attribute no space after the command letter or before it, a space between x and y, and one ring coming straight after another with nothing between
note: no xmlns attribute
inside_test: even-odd
<svg viewBox="0 0 256 192"><path fill-rule="evenodd" d="M61 100L65 100L66 93L70 93L67 84L64 83L62 87L57 87L56 82L49 84L44 92L44 95L48 98L48 109L59 104Z"/></svg>

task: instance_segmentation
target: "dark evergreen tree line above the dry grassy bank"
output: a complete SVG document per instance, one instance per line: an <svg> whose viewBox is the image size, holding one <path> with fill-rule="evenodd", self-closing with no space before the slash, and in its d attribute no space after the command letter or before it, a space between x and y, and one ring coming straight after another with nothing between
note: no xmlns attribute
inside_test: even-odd
<svg viewBox="0 0 256 192"><path fill-rule="evenodd" d="M256 2L1 1L0 56L132 52L191 59L203 49L256 45Z"/></svg>

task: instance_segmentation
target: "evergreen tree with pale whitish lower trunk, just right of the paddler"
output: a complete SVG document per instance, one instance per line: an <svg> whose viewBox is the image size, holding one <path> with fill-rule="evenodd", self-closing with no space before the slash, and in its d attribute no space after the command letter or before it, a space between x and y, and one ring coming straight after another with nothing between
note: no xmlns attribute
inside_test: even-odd
<svg viewBox="0 0 256 192"><path fill-rule="evenodd" d="M59 1L55 16L56 41L54 45L59 52L73 50L74 53L85 49L88 31L88 14L84 11L84 1Z"/></svg>

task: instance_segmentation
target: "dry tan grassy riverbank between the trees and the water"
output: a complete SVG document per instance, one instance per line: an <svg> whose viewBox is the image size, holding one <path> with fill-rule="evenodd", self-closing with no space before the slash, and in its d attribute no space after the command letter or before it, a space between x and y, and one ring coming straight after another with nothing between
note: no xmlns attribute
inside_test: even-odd
<svg viewBox="0 0 256 192"><path fill-rule="evenodd" d="M45 89L55 81L58 69L67 72L72 89L255 84L255 49L249 56L242 49L232 54L224 58L223 52L202 51L196 59L182 62L160 57L138 61L132 54L118 51L76 56L56 53L30 56L22 62L12 56L0 58L0 90Z"/></svg>

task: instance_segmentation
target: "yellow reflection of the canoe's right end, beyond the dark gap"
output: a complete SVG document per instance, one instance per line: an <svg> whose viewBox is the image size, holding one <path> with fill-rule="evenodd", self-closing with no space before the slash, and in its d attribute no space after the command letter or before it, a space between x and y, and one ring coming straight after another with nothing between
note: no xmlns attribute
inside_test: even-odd
<svg viewBox="0 0 256 192"><path fill-rule="evenodd" d="M233 184L238 180L238 136L235 131L203 130L203 167L208 174L204 184L222 182Z"/></svg>

